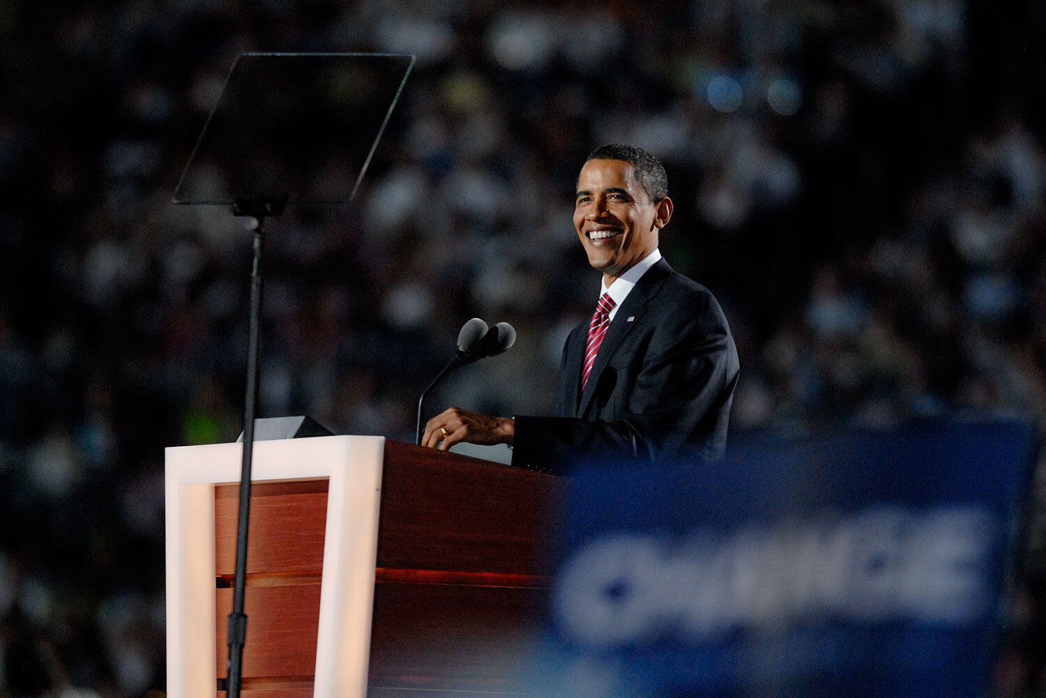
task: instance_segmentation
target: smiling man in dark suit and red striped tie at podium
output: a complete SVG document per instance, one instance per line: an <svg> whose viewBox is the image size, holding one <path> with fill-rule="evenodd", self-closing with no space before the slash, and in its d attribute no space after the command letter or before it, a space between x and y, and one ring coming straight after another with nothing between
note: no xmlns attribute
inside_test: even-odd
<svg viewBox="0 0 1046 698"><path fill-rule="evenodd" d="M642 149L589 155L574 229L602 282L591 319L567 338L552 415L452 407L429 420L423 445L509 444L513 465L554 473L579 458L722 455L737 352L712 294L661 257L667 189L664 167Z"/></svg>

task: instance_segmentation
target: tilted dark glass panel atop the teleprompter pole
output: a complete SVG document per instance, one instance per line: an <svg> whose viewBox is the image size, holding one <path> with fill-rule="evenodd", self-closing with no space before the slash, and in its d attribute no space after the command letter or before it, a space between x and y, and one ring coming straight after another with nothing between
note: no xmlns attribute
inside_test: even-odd
<svg viewBox="0 0 1046 698"><path fill-rule="evenodd" d="M175 203L344 203L356 196L414 58L243 53Z"/></svg>

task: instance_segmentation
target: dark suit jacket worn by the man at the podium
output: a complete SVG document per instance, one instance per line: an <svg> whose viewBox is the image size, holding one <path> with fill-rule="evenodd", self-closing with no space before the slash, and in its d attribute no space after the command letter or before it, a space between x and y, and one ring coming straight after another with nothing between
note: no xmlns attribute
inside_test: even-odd
<svg viewBox="0 0 1046 698"><path fill-rule="evenodd" d="M596 457L723 454L740 364L708 289L664 260L651 267L614 315L582 392L588 324L563 348L553 414L516 418L514 466L560 473Z"/></svg>

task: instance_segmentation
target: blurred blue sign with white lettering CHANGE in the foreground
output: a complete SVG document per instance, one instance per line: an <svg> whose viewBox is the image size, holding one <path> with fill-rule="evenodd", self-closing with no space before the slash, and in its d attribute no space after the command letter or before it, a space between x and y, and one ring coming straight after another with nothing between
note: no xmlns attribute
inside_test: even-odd
<svg viewBox="0 0 1046 698"><path fill-rule="evenodd" d="M935 424L567 478L535 690L981 697L1037 442Z"/></svg>

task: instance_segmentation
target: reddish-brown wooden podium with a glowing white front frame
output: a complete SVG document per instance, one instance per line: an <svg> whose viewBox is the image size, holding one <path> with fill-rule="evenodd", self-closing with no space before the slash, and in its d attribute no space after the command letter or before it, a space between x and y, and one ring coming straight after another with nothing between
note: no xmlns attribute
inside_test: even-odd
<svg viewBox="0 0 1046 698"><path fill-rule="evenodd" d="M224 696L240 444L167 449L167 693ZM518 690L558 478L380 436L254 446L243 693Z"/></svg>

